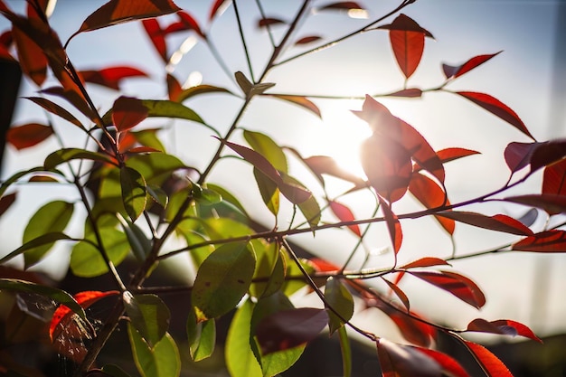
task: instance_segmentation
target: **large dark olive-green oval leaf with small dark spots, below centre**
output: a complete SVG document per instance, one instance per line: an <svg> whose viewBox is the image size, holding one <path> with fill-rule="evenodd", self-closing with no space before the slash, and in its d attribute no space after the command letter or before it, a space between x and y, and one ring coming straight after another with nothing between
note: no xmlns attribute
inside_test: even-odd
<svg viewBox="0 0 566 377"><path fill-rule="evenodd" d="M204 259L191 293L198 321L222 316L238 305L250 287L255 265L247 242L222 245Z"/></svg>

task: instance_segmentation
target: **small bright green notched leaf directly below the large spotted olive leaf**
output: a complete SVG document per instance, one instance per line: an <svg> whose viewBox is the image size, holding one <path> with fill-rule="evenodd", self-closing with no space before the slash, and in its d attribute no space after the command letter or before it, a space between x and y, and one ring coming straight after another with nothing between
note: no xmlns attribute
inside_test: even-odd
<svg viewBox="0 0 566 377"><path fill-rule="evenodd" d="M212 355L216 345L216 323L214 319L197 323L192 310L187 317L186 332L189 352L193 361L200 362Z"/></svg>

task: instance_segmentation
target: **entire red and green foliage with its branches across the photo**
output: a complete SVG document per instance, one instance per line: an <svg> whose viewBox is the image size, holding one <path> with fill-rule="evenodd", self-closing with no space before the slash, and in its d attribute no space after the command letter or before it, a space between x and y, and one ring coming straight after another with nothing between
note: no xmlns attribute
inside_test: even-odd
<svg viewBox="0 0 566 377"><path fill-rule="evenodd" d="M493 353L465 339L465 333L521 335L540 341L527 326L513 320L478 318L466 329L433 323L412 310L411 297L401 288L401 280L410 276L445 290L477 309L486 303L481 288L448 264L458 258L480 257L485 251L444 259L423 256L402 265L398 262L403 252L403 224L425 216L438 221L448 239L453 237L460 223L515 237L507 245L489 250L492 253L566 251L563 222L535 232L530 228L531 223L524 223L522 219L472 212L467 208L471 204L500 201L540 209L537 214L546 212L553 219L560 219L566 212L566 141L537 141L513 109L489 94L448 90L450 83L472 74L499 52L474 56L460 65L443 64L445 80L436 87L420 88L410 79L420 66L425 44L433 36L417 21L401 13L415 0L402 0L390 12L329 41L320 35L301 34L299 25L305 18L325 12L363 12L363 5L328 2L313 13L314 5L304 0L290 20L282 20L265 14L262 2L257 1L257 27L269 36L271 43L269 57L258 72L254 70L255 63L251 63L246 36L241 32L240 2L235 0L211 2L205 23L197 21L190 10L180 9L172 0L110 0L90 14L64 43L49 24L45 13L48 3L28 0L27 13L22 15L14 13L0 0L0 13L12 23L12 29L5 32L1 40L1 57L17 60L27 79L37 86L38 97L27 100L42 108L48 119L47 124L33 122L12 127L7 134L8 143L18 150L53 138L61 143L42 163L2 183L0 213L4 214L16 200L18 193L14 184L23 184L25 179L42 184L71 184L80 201L57 200L42 205L29 220L22 245L0 262L23 255L24 268L28 269L41 262L56 242L65 241L72 245L69 266L72 274L83 278L107 274L115 287L71 296L34 281L2 278L0 289L33 293L60 305L52 315L49 335L57 352L76 363L76 375L89 371L93 375L126 375L116 365L105 365L96 372L93 369L99 352L121 321L127 322L132 360L141 375L179 375L181 358L177 344L183 340L169 334L172 313L160 297L179 291L190 292L191 296L191 303L186 303L191 310L186 318L187 339L184 341L190 344L194 361L214 353L215 322L235 312L224 350L233 377L273 376L287 370L301 356L306 344L325 328L340 338L344 376L349 376L351 371L347 337L352 331L375 344L383 376L467 376L468 372L458 361L434 350L439 333L462 344L488 376L511 373ZM232 72L227 67L208 34L228 6L233 8L231 14L237 17L240 26L235 33L240 33L248 60L245 73ZM165 18L169 22L166 25L157 21L157 17L165 14L169 14ZM230 85L224 88L212 83L185 88L167 71L163 77L167 99L147 99L143 94L131 97L120 93L122 81L145 80L148 76L145 72L120 65L77 71L72 64L73 57L67 54L68 45L80 39L81 33L127 22L143 25L141 30L164 65L171 64L172 60L168 38L171 34L197 38L208 47L232 80L230 84L235 83L240 92L231 90ZM282 33L275 33L276 29ZM403 84L401 89L391 93L359 98L361 109L353 111L372 132L361 146L365 178L344 170L332 156L301 156L293 146L280 145L269 135L241 122L244 111L257 99L290 103L323 117L316 98L332 99L333 96L277 92L279 82L266 80L268 73L367 32L389 35ZM282 58L283 52L292 52L292 48L300 49ZM49 71L57 83L46 87ZM93 101L91 84L114 90L116 99L111 108L100 108ZM464 202L451 202L445 185L445 165L458 164L457 160L478 152L461 147L435 150L417 128L378 101L380 97L418 100L424 93L434 91L467 99L531 140L511 142L506 147L504 158L509 177L501 188ZM205 95L231 96L238 101L230 125L209 124L203 120L206 117L190 107L193 100ZM212 134L212 139L202 142L212 143L215 152L211 156L193 156L193 159L206 159L204 168L187 165L181 156L168 154L166 143L160 138L161 129L144 127L149 124L146 123L149 118L182 119ZM67 128L78 130L82 135L73 146L61 142L61 134L67 132ZM243 139L238 139L238 135ZM274 219L272 229L266 230L250 218L248 209L231 193L230 185L210 182L212 169L229 156L249 165L255 182L245 184L250 186L250 191L259 190L258 200L261 199ZM302 184L294 176L291 166L296 165L289 164L289 158L304 164L313 178L312 186ZM541 170L540 192L508 194ZM239 177L233 179L235 182ZM331 195L328 191L331 180L339 180L348 187L343 193ZM361 191L372 193L375 199L372 216L357 218L344 203L345 197ZM401 211L398 202L408 196L420 203L418 211ZM79 207L84 211L77 211ZM282 214L289 209L290 221ZM80 212L84 213L81 219ZM338 221L333 220L336 218ZM84 221L83 230L67 233L71 219ZM368 230L379 224L390 238L393 258L387 268L363 265L347 269L358 247L344 250L344 254L349 252L349 258L343 266L324 259L297 257L294 236L319 235L329 229L342 228L359 240L359 246L373 242L367 237ZM171 248L166 241L172 239L183 245ZM179 254L190 256L196 271L193 284L182 287L145 285L146 279L160 268L160 261ZM126 259L134 260L135 270L118 272L118 265ZM373 287L376 278L384 283L381 286L384 288ZM372 284L369 279L373 279ZM293 305L289 297L305 294L302 287L308 287L319 297L320 307ZM85 309L99 300L108 306L109 315L103 318L102 325L94 326L85 316ZM411 345L393 343L354 325L354 309L358 307L375 308L390 316ZM8 367L15 371L24 368L15 363L12 366L0 364L0 370Z"/></svg>

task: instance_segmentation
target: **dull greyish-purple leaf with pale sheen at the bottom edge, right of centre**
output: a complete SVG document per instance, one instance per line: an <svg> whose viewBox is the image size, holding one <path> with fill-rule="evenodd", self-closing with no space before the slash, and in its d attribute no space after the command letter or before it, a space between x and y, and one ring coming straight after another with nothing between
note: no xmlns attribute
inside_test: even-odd
<svg viewBox="0 0 566 377"><path fill-rule="evenodd" d="M408 345L381 338L377 341L377 355L382 377L439 377L442 374L439 363Z"/></svg>

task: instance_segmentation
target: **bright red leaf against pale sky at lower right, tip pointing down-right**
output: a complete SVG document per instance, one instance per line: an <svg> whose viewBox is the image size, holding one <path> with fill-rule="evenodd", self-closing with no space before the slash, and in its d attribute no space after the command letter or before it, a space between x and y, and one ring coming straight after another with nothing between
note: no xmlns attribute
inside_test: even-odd
<svg viewBox="0 0 566 377"><path fill-rule="evenodd" d="M486 297L471 279L448 271L407 271L433 286L439 287L458 297L465 303L480 308L486 305Z"/></svg>

